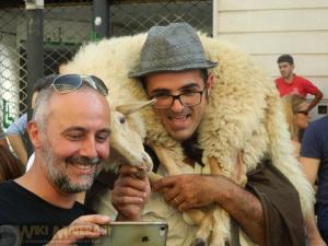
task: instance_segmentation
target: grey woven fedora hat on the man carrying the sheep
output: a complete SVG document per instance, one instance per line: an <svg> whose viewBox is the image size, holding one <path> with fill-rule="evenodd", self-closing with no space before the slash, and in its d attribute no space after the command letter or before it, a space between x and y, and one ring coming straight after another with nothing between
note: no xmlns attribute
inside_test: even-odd
<svg viewBox="0 0 328 246"><path fill-rule="evenodd" d="M173 23L150 28L140 54L140 65L130 78L154 72L213 68L218 62L206 59L203 47L194 27Z"/></svg>

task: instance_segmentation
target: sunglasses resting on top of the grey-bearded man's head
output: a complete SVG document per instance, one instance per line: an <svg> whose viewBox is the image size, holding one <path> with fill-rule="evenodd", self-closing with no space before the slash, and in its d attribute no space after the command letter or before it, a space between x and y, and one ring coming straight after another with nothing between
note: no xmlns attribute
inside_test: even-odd
<svg viewBox="0 0 328 246"><path fill-rule="evenodd" d="M54 87L58 93L70 93L81 87L83 83L86 83L87 86L93 87L104 96L108 95L108 89L105 83L95 75L62 74L55 78L50 87Z"/></svg>

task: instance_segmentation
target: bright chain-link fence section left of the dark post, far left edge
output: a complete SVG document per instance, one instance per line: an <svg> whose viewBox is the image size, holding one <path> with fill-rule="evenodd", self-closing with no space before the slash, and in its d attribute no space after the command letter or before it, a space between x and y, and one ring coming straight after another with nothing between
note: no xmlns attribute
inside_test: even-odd
<svg viewBox="0 0 328 246"><path fill-rule="evenodd" d="M23 66L26 56L16 35L17 30L25 26L24 9L1 9L0 25L0 105L5 128L21 112L20 102L26 98L23 94L26 83L21 83L26 78Z"/></svg>

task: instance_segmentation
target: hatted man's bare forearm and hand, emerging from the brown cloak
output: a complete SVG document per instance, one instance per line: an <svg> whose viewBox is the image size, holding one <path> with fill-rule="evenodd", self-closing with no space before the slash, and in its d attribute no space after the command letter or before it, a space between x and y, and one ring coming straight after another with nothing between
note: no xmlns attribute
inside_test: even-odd
<svg viewBox="0 0 328 246"><path fill-rule="evenodd" d="M185 211L211 203L221 206L258 245L266 245L260 201L239 185L221 175L184 174L163 177L153 186L166 202Z"/></svg>

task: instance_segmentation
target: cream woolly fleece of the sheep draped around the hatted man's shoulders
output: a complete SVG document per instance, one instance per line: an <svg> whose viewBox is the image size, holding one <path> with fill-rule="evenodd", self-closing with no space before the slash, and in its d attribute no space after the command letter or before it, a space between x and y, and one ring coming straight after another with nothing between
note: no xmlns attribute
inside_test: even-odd
<svg viewBox="0 0 328 246"><path fill-rule="evenodd" d="M203 162L214 156L225 174L233 171L236 153L243 151L247 172L253 171L263 155L276 165L298 191L303 214L313 208L313 189L306 181L297 161L284 119L282 105L273 81L251 59L236 47L200 35L208 59L218 61L211 70L214 84L204 117L198 130L198 142ZM95 74L109 89L112 108L133 101L145 101L147 95L136 79L128 73L139 65L145 34L104 39L83 46L65 73ZM130 119L132 127L144 138L164 145L175 160L183 160L183 150L163 128L151 107Z"/></svg>

